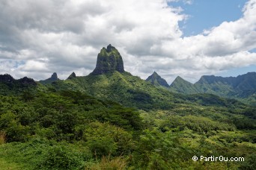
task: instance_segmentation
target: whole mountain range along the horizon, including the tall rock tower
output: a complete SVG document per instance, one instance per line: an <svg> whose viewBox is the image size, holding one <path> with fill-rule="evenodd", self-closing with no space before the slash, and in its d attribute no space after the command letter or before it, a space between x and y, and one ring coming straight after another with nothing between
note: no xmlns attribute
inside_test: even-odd
<svg viewBox="0 0 256 170"><path fill-rule="evenodd" d="M193 101L202 104L229 102L223 98L220 100L216 95L240 99L251 104L256 103L256 72L249 72L237 78L204 75L195 84L178 76L169 86L156 72L153 72L146 81L125 72L121 54L112 45L101 49L96 68L90 75L76 76L73 72L67 80L61 81L57 73L53 73L51 78L38 82L26 77L15 80L10 75L0 75L0 86L1 94L21 92L25 88L78 90L97 98L111 99L129 107L146 109L171 108L175 103ZM223 102L221 104L224 104Z"/></svg>

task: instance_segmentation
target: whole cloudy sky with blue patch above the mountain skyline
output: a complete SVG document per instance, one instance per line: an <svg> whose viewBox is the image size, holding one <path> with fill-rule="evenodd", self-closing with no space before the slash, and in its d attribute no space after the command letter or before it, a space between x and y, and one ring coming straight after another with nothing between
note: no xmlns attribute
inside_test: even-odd
<svg viewBox="0 0 256 170"><path fill-rule="evenodd" d="M0 74L85 76L109 44L168 84L255 72L256 0L0 0Z"/></svg>

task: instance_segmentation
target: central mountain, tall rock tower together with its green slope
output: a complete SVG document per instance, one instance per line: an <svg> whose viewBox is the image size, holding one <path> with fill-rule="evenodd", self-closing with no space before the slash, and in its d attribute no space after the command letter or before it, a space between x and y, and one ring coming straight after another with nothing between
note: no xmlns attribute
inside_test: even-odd
<svg viewBox="0 0 256 170"><path fill-rule="evenodd" d="M97 56L93 72L66 81L55 81L55 89L74 89L97 98L106 98L129 107L171 107L174 96L168 89L157 89L147 81L124 71L124 62L118 50L108 45Z"/></svg>

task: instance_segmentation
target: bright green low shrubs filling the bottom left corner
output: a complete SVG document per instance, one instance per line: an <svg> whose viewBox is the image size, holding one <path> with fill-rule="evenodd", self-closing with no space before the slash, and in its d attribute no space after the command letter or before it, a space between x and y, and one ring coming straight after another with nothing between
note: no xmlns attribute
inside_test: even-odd
<svg viewBox="0 0 256 170"><path fill-rule="evenodd" d="M0 157L22 165L22 169L82 169L92 159L88 148L47 139L0 145Z"/></svg>

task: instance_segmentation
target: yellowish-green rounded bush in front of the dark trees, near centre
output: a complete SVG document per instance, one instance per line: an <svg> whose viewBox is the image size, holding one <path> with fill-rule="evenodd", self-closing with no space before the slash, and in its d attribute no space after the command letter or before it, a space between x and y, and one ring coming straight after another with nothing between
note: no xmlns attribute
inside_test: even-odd
<svg viewBox="0 0 256 170"><path fill-rule="evenodd" d="M131 133L107 122L91 122L84 130L83 140L96 157L128 154L134 148Z"/></svg>

